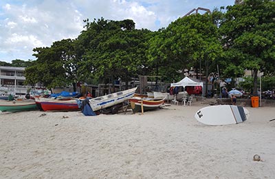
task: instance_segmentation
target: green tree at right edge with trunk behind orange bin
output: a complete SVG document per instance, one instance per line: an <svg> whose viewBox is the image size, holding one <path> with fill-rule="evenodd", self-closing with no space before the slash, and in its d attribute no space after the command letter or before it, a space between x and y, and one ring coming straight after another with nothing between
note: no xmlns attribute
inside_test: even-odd
<svg viewBox="0 0 275 179"><path fill-rule="evenodd" d="M274 72L274 14L275 2L245 0L241 5L228 6L221 21L229 58L244 69L253 70L253 95L257 95L258 72Z"/></svg>

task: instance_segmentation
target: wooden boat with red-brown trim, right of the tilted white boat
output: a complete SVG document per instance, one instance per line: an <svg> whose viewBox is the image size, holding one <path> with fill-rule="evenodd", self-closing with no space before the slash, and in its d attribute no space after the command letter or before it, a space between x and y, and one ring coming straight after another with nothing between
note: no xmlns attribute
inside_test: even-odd
<svg viewBox="0 0 275 179"><path fill-rule="evenodd" d="M143 105L143 111L150 111L159 108L162 104L164 104L164 98L157 99L157 98L130 98L129 99L131 103L131 108L133 112L142 112L142 105Z"/></svg>

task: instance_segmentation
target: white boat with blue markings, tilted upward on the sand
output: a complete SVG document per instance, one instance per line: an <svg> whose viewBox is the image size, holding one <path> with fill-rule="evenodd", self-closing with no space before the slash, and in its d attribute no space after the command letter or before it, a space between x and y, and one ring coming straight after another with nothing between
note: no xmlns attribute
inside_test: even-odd
<svg viewBox="0 0 275 179"><path fill-rule="evenodd" d="M124 101L128 101L129 98L133 97L136 89L137 87L134 87L131 89L126 89L121 92L115 92L112 94L107 94L105 96L91 98L89 99L91 109L93 109L93 111L96 112L100 109L105 109L107 107L111 107L113 105L118 105L120 103L123 103Z"/></svg>

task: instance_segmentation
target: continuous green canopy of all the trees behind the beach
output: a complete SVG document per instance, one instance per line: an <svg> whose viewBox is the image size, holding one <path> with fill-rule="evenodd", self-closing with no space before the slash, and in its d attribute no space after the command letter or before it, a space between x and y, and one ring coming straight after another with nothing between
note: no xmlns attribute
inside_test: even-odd
<svg viewBox="0 0 275 179"><path fill-rule="evenodd" d="M220 78L236 78L244 70L253 70L255 94L258 72L274 75L275 71L274 14L275 2L245 0L225 12L216 9L179 18L157 32L137 30L130 19L86 19L76 39L35 48L37 60L28 63L25 74L29 83L56 87L75 86L78 81L129 81L140 75L161 75L171 82L191 68L206 77L220 74Z"/></svg>

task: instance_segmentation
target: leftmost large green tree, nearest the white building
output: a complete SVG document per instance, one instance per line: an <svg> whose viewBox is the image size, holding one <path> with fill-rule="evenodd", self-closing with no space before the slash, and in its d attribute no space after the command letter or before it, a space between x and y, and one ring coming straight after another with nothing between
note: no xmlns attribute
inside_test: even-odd
<svg viewBox="0 0 275 179"><path fill-rule="evenodd" d="M56 41L50 48L35 48L34 52L37 60L25 70L26 83L41 82L47 88L73 85L76 91L78 59L74 40Z"/></svg>

